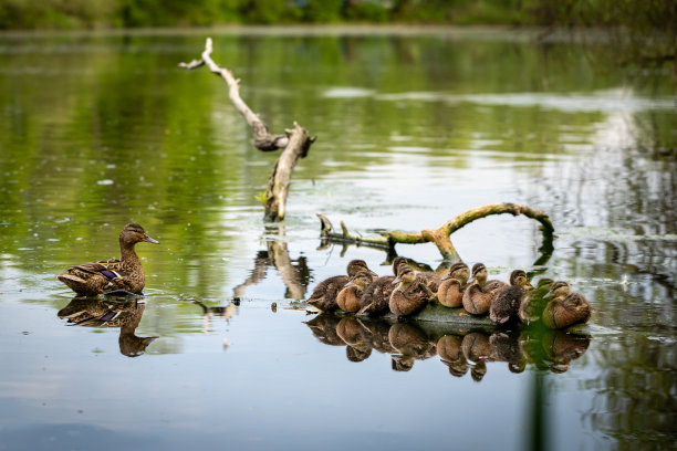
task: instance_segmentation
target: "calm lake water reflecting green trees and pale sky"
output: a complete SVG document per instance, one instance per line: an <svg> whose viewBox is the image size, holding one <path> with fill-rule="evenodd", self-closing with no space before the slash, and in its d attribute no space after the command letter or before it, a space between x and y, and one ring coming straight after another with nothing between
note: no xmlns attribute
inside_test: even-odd
<svg viewBox="0 0 677 451"><path fill-rule="evenodd" d="M317 136L282 224L256 198L278 154L221 80L177 67L207 35L273 133ZM674 449L676 78L532 38L0 35L0 450ZM494 216L451 235L460 255L569 281L594 307L582 333L289 308L352 259L390 271L321 245L316 212L377 237L501 201L544 210L552 249ZM55 275L118 255L132 221L160 241L137 247L145 297L73 301Z"/></svg>

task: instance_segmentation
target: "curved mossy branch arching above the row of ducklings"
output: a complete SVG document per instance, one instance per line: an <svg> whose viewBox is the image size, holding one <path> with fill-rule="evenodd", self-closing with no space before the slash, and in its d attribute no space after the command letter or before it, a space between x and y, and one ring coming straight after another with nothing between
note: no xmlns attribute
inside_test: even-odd
<svg viewBox="0 0 677 451"><path fill-rule="evenodd" d="M442 254L445 261L459 261L461 260L460 255L451 243L449 235L477 219L502 213L510 213L512 216L524 214L528 218L535 219L542 224L544 241L552 245L552 233L554 232L554 228L552 227L548 214L545 214L542 210L533 210L530 207L520 206L517 203L490 203L483 207L473 208L472 210L468 210L465 213L450 219L441 224L439 229L435 230L425 229L418 233L384 231L381 232L381 234L385 237L384 239L363 239L352 237L347 233L347 230L343 224L343 233L335 233L329 219L320 213L317 213L317 217L322 223L321 232L323 239L385 248L388 250L393 250L396 243L419 244L431 242L437 245L437 249Z"/></svg>

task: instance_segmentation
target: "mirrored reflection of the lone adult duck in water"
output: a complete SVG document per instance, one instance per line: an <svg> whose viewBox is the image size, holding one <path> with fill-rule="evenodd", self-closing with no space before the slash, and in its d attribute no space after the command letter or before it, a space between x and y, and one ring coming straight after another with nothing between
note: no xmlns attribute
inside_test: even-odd
<svg viewBox="0 0 677 451"><path fill-rule="evenodd" d="M134 334L145 308L146 303L140 301L118 303L75 297L59 311L58 316L74 326L119 327L119 352L136 357L144 354L146 347L158 338L137 337Z"/></svg>

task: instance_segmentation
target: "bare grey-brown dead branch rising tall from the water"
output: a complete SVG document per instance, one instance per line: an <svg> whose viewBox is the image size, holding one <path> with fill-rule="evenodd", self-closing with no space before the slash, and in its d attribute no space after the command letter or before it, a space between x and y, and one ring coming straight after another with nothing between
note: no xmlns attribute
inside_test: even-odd
<svg viewBox="0 0 677 451"><path fill-rule="evenodd" d="M189 63L179 63L179 67L194 70L207 65L209 70L223 78L228 84L230 102L253 132L253 145L261 151L273 151L284 149L275 161L272 174L268 180L265 192L265 221L281 221L284 219L287 195L291 183L291 176L299 158L304 158L311 145L315 141L314 136L310 136L306 129L294 122L294 127L284 130L284 135L274 135L268 130L268 126L261 118L240 97L240 81L235 78L232 72L220 67L211 59L212 43L211 38L207 38L205 51L200 60L192 60Z"/></svg>

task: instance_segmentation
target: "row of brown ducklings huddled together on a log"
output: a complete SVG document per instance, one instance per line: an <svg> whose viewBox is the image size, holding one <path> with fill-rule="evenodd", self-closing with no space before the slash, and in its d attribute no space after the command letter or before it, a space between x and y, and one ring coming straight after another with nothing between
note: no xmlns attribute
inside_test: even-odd
<svg viewBox="0 0 677 451"><path fill-rule="evenodd" d="M352 260L346 272L317 284L308 303L324 312L406 317L439 302L450 308L462 307L471 315L488 315L497 324L541 319L549 328L585 323L592 312L587 300L573 293L566 282L542 279L534 287L522 270L512 271L508 283L488 280L482 263L476 263L472 271L464 262L455 263L440 277L434 272L415 271L406 259L397 256L394 275L378 276L363 260Z"/></svg>

